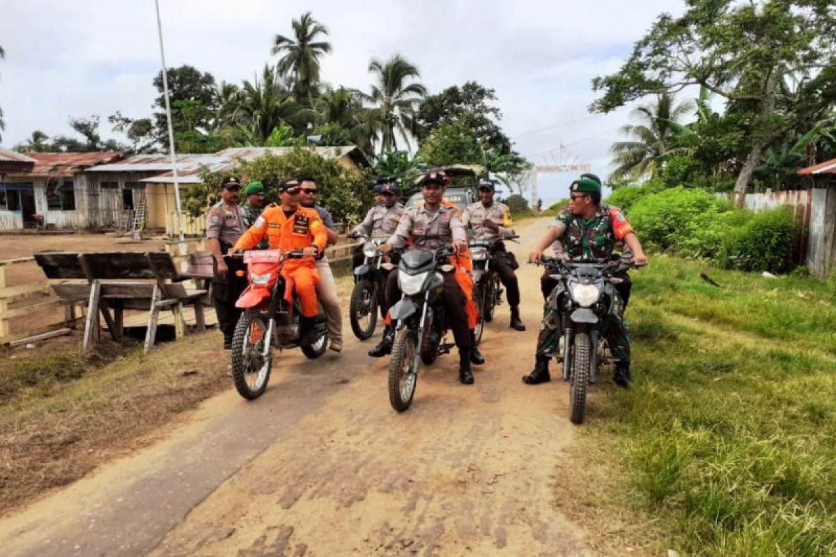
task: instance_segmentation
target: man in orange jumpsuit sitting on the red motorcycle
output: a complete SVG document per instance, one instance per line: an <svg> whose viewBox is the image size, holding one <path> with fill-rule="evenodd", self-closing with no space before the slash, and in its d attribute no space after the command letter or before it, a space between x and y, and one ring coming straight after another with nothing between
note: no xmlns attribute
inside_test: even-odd
<svg viewBox="0 0 836 557"><path fill-rule="evenodd" d="M301 344L312 344L314 324L319 304L316 286L316 256L325 250L328 234L319 213L299 205L298 180L283 180L278 186L282 205L270 205L255 224L244 232L231 252L252 249L267 235L271 250L293 251L301 249L303 259L286 259L282 267L285 280L293 281L293 287L302 305L299 319Z"/></svg>

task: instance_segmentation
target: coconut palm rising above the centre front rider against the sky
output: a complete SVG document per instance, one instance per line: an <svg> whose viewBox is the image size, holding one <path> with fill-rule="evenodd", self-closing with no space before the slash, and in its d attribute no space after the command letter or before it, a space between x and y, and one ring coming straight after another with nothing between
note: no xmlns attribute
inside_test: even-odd
<svg viewBox="0 0 836 557"><path fill-rule="evenodd" d="M421 78L418 68L395 54L387 62L373 58L369 63L370 73L375 74L375 83L370 94L363 94L365 102L373 107L366 113L366 129L380 133L381 152L398 149L395 132L400 133L409 147L407 129L415 114L416 105L426 95L426 87L421 83L409 83Z"/></svg>

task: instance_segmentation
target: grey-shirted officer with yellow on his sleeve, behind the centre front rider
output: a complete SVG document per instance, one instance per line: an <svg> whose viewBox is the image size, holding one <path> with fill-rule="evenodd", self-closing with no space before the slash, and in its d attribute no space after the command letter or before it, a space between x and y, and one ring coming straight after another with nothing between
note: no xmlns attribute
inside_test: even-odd
<svg viewBox="0 0 836 557"><path fill-rule="evenodd" d="M461 224L470 228L477 240L496 240L514 233L511 210L507 205L494 201L493 194L493 182L480 182L480 201L467 205L464 214L461 215ZM502 241L497 241L493 247L491 270L499 273L499 280L507 291L508 305L511 306L511 328L525 331L525 325L520 320L520 287L517 275L514 274L512 255L506 251Z"/></svg>

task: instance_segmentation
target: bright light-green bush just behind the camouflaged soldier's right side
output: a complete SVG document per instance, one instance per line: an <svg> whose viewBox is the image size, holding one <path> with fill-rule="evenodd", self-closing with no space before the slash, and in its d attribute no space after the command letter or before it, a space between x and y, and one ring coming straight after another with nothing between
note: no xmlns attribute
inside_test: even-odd
<svg viewBox="0 0 836 557"><path fill-rule="evenodd" d="M630 209L630 223L650 248L711 257L735 219L720 215L731 210L728 200L678 187L640 197Z"/></svg>

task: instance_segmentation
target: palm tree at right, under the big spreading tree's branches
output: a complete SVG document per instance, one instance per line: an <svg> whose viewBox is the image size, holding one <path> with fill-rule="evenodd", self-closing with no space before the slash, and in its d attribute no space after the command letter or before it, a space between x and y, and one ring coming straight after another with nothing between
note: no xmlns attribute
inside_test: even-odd
<svg viewBox="0 0 836 557"><path fill-rule="evenodd" d="M675 139L681 131L679 122L692 109L692 101L675 104L674 96L668 93L658 95L654 104L634 109L630 115L637 124L621 128L621 133L630 140L616 142L609 149L613 154L612 165L616 167L612 178L660 175L665 158L677 152Z"/></svg>

